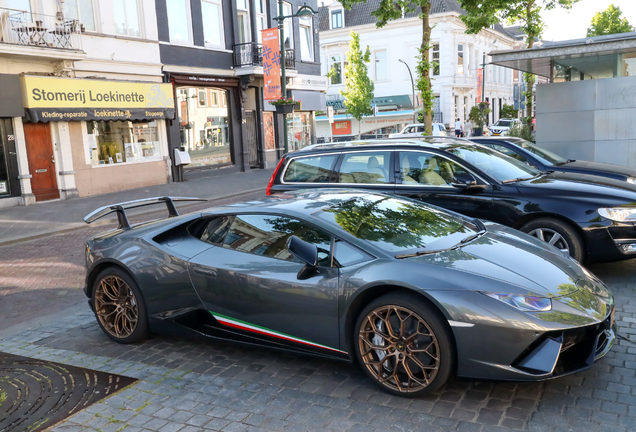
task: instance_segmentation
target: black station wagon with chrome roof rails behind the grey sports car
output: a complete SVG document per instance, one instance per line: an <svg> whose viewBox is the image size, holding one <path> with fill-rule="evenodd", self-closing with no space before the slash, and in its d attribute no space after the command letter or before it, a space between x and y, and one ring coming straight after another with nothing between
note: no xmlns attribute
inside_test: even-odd
<svg viewBox="0 0 636 432"><path fill-rule="evenodd" d="M393 193L520 229L579 262L636 257L636 185L541 172L448 137L314 145L289 153L268 193L312 187Z"/></svg>

